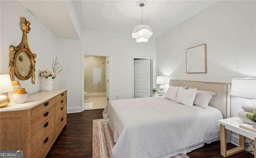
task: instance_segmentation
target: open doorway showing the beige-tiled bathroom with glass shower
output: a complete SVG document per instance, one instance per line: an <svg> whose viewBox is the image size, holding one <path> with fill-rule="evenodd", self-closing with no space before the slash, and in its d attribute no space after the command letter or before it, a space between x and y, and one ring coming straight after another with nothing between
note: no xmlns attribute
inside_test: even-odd
<svg viewBox="0 0 256 158"><path fill-rule="evenodd" d="M104 109L108 103L108 57L84 55L84 110Z"/></svg>

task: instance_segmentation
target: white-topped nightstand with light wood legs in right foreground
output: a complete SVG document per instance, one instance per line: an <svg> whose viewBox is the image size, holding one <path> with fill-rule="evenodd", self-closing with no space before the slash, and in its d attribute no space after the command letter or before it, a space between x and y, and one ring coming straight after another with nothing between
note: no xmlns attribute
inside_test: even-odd
<svg viewBox="0 0 256 158"><path fill-rule="evenodd" d="M222 119L218 120L218 125L220 125L220 154L224 156L225 158L236 154L238 152L241 152L245 150L244 146L244 137L248 137L250 139L253 139L256 142L256 132L252 132L249 130L246 130L244 128L239 127L239 124L243 124L239 117L231 117L228 119ZM236 132L239 134L239 146L230 150L227 150L226 146L226 132L225 129L231 130L233 132ZM254 153L256 150L254 149ZM256 158L256 154L254 155L254 158Z"/></svg>

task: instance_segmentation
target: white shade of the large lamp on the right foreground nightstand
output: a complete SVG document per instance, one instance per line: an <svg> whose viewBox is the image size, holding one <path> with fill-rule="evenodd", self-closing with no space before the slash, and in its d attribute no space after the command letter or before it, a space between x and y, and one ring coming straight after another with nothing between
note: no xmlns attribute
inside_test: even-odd
<svg viewBox="0 0 256 158"><path fill-rule="evenodd" d="M230 95L256 99L256 79L232 79Z"/></svg>

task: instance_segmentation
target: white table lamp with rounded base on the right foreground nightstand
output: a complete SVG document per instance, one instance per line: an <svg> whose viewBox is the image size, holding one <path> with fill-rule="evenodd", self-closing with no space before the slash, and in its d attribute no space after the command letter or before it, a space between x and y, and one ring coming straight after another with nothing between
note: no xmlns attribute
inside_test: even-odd
<svg viewBox="0 0 256 158"><path fill-rule="evenodd" d="M256 105L252 102L252 99L256 99L256 79L250 79L250 77L232 79L230 95L247 99L242 104L244 111L240 111L238 116L244 123L251 124L244 113L252 113L256 109Z"/></svg>

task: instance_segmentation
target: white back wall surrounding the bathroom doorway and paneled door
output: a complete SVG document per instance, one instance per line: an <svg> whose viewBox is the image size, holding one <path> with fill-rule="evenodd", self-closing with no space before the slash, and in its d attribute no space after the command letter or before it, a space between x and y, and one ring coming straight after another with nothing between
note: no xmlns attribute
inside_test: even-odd
<svg viewBox="0 0 256 158"><path fill-rule="evenodd" d="M110 56L110 100L116 99L116 95L128 99L132 98L132 56L155 57L155 40L137 43L131 34L85 31L81 41L61 39L58 50L64 69L58 78L58 89L68 89L68 112L78 112L82 97L82 54Z"/></svg>

